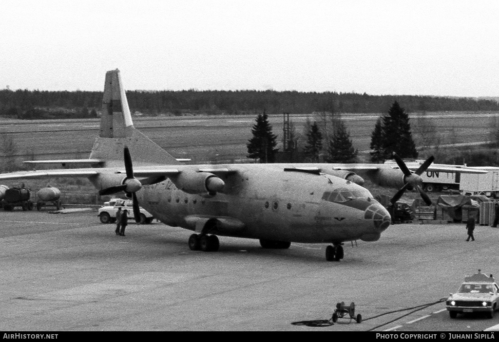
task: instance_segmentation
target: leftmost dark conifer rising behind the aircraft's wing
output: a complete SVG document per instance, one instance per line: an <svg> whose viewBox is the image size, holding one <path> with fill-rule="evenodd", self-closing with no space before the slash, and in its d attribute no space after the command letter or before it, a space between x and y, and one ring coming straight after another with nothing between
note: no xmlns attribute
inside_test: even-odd
<svg viewBox="0 0 499 342"><path fill-rule="evenodd" d="M248 147L248 158L259 159L260 163L273 163L275 153L278 148L277 135L272 133L272 126L268 122L267 114L263 110L263 114L258 114L256 123L251 129L253 136L246 146Z"/></svg>

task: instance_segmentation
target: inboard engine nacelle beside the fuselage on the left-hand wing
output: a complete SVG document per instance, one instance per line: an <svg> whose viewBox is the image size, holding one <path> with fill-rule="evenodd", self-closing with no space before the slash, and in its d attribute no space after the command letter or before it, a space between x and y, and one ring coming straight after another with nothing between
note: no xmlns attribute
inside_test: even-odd
<svg viewBox="0 0 499 342"><path fill-rule="evenodd" d="M215 195L224 189L225 182L209 172L182 171L169 177L175 186L188 194Z"/></svg>

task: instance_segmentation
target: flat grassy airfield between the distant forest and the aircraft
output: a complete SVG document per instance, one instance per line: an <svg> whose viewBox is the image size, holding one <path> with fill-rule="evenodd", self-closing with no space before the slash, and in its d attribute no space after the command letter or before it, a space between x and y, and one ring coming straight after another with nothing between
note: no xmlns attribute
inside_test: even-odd
<svg viewBox="0 0 499 342"><path fill-rule="evenodd" d="M421 146L425 139L425 124L435 127L434 134L441 144L473 143L487 141L491 137L498 113L428 113L413 115L411 125L414 140ZM304 137L306 118L312 115L291 115L296 133ZM369 150L371 132L379 114L345 114L343 118L350 130L354 146L360 151ZM273 131L282 136L282 116L270 116ZM193 163L230 162L246 158L246 143L251 137L253 116L196 116L134 118L135 126L177 158L191 158ZM16 146L13 157L22 160L87 158L94 138L98 135L99 121L96 119L0 121L0 132L11 138ZM423 131L423 134L417 133ZM427 134L426 134L427 135ZM462 149L463 147L460 147ZM466 148L466 146L464 147ZM472 148L471 145L469 148ZM457 153L457 148L444 153ZM425 158L434 151L420 153ZM367 154L362 154L367 156ZM2 156L0 155L0 158ZM5 157L3 157L5 162ZM438 162L438 160L436 160ZM7 186L15 186L10 182ZM96 191L86 179L30 180L26 186L37 190L50 184L58 187L67 196L67 203L94 203ZM385 192L375 189L376 193ZM391 191L391 190L390 190ZM391 193L391 192L390 192ZM107 200L105 197L102 200Z"/></svg>

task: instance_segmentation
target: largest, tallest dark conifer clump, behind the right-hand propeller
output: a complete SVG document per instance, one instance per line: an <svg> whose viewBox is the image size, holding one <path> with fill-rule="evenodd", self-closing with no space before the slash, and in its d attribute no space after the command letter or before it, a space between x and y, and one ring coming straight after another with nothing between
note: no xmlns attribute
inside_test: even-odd
<svg viewBox="0 0 499 342"><path fill-rule="evenodd" d="M384 116L376 122L371 135L371 160L381 161L397 153L401 158L417 158L418 151L412 138L409 115L395 101Z"/></svg>

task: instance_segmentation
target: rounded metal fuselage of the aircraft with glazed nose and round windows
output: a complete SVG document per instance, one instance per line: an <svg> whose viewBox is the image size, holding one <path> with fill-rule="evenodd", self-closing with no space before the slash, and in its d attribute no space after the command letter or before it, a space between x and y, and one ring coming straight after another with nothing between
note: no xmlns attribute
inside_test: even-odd
<svg viewBox="0 0 499 342"><path fill-rule="evenodd" d="M140 205L161 222L195 230L192 217L232 218L226 236L291 242L375 241L390 225L388 211L370 192L324 174L284 171L271 164L239 164L221 177L222 192L188 194L167 179L143 186Z"/></svg>

